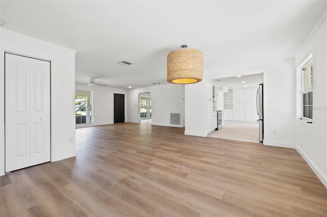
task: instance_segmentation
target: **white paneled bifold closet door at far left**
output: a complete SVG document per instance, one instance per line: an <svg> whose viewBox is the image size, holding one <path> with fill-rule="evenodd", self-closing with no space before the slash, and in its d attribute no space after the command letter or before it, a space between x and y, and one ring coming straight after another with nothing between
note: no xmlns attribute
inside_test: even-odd
<svg viewBox="0 0 327 217"><path fill-rule="evenodd" d="M5 55L6 172L51 160L50 62Z"/></svg>

